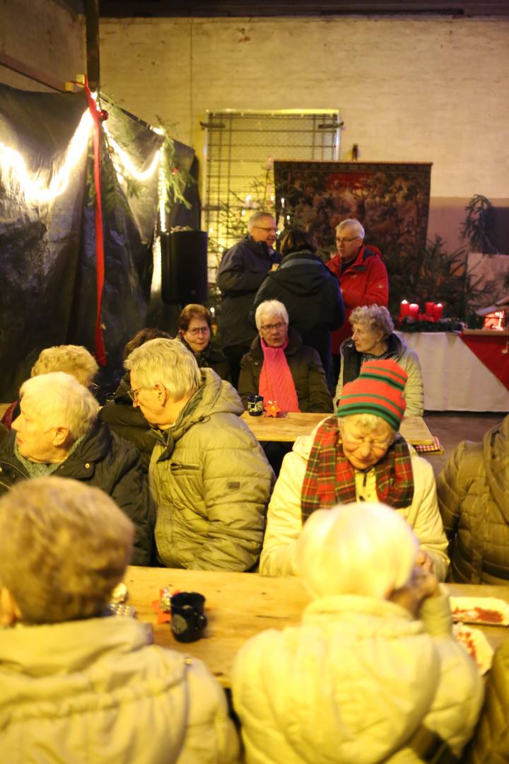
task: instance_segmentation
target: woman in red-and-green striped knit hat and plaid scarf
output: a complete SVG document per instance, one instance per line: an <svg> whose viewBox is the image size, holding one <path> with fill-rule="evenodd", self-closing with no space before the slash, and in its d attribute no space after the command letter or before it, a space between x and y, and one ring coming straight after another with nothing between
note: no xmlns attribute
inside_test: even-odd
<svg viewBox="0 0 509 764"><path fill-rule="evenodd" d="M260 558L265 575L295 575L295 542L308 516L337 503L378 501L408 521L420 542L418 564L447 574L447 539L433 468L398 434L406 372L368 361L346 384L337 410L285 456L269 503Z"/></svg>

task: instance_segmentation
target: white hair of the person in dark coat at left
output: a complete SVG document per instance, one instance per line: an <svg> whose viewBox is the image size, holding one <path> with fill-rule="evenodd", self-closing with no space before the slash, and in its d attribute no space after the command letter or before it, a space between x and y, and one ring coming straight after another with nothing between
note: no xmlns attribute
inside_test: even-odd
<svg viewBox="0 0 509 764"><path fill-rule="evenodd" d="M95 423L99 404L90 390L64 371L31 377L21 385L21 400L30 401L50 427L66 427L72 441L86 435Z"/></svg>

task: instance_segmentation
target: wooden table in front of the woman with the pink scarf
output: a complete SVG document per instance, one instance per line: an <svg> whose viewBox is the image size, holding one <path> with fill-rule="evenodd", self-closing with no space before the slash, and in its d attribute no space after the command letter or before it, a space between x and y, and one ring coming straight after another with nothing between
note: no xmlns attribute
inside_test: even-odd
<svg viewBox="0 0 509 764"><path fill-rule="evenodd" d="M299 435L309 435L318 422L332 414L309 414L289 412L284 417L250 416L246 411L242 419L258 440L293 442ZM401 435L412 445L433 445L433 435L422 416L404 416Z"/></svg>

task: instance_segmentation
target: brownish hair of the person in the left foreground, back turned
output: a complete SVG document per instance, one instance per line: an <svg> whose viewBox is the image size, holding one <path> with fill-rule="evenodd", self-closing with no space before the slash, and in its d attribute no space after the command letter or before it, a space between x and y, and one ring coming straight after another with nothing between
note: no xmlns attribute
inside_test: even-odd
<svg viewBox="0 0 509 764"><path fill-rule="evenodd" d="M0 499L0 581L24 623L99 616L124 577L134 526L104 491L20 481Z"/></svg>

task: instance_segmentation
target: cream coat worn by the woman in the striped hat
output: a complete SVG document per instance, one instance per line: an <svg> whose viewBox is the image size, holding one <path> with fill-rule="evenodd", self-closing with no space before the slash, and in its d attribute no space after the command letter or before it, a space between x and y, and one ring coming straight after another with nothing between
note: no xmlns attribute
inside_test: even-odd
<svg viewBox="0 0 509 764"><path fill-rule="evenodd" d="M314 433L295 441L292 452L283 460L267 514L259 571L265 575L295 575L295 542L301 532L301 492ZM433 468L410 446L414 472L414 500L409 507L395 510L414 529L422 549L430 554L439 581L445 581L449 558L447 539L438 510ZM375 471L355 471L356 499L378 501Z"/></svg>

